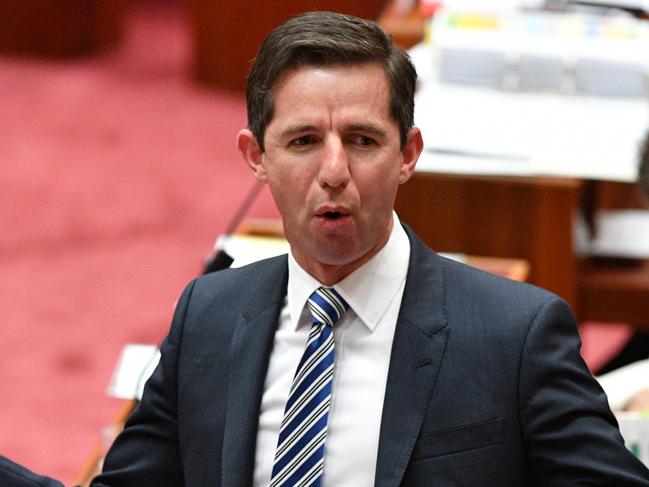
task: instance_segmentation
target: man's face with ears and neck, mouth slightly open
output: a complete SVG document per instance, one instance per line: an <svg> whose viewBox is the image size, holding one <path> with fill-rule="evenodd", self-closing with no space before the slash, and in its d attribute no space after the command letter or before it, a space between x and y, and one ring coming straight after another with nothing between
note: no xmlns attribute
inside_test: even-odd
<svg viewBox="0 0 649 487"><path fill-rule="evenodd" d="M297 262L331 285L387 242L397 187L414 170L421 135L412 129L400 149L376 64L290 71L273 101L265 152L247 130L239 148L269 184Z"/></svg>

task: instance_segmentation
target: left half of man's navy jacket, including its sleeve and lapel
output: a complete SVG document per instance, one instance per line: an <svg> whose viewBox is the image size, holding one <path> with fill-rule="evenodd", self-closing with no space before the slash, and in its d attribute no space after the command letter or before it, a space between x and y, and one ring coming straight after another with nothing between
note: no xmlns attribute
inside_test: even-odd
<svg viewBox="0 0 649 487"><path fill-rule="evenodd" d="M93 486L252 485L259 404L287 275L280 256L187 286L160 363Z"/></svg>

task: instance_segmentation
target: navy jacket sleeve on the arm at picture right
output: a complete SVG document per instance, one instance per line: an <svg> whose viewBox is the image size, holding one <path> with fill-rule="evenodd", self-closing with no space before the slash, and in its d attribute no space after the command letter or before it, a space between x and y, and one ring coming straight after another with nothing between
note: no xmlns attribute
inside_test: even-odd
<svg viewBox="0 0 649 487"><path fill-rule="evenodd" d="M530 324L521 358L519 404L530 477L547 487L649 487L649 471L624 446L580 346L570 309L549 299Z"/></svg>

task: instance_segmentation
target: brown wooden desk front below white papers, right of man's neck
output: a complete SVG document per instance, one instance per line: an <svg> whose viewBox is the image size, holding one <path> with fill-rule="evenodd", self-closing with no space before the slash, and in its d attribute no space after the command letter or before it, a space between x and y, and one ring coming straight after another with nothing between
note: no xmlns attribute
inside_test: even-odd
<svg viewBox="0 0 649 487"><path fill-rule="evenodd" d="M529 281L572 306L580 320L649 327L649 261L581 260L578 213L637 205L632 184L545 177L415 173L397 194L399 217L434 250L515 257Z"/></svg>

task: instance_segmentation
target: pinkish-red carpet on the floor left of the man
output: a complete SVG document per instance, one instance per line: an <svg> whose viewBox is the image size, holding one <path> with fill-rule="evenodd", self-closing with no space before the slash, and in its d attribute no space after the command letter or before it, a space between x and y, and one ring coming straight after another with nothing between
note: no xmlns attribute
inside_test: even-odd
<svg viewBox="0 0 649 487"><path fill-rule="evenodd" d="M0 453L68 483L121 347L162 339L253 182L243 98L193 85L184 22L139 6L117 52L0 57Z"/></svg>

